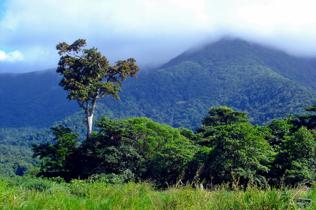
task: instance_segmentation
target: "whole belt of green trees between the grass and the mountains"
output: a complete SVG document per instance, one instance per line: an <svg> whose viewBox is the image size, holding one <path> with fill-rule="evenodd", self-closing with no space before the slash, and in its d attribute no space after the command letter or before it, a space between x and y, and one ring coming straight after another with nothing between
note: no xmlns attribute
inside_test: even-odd
<svg viewBox="0 0 316 210"><path fill-rule="evenodd" d="M192 132L148 118L96 122L99 132L79 144L78 134L53 127L53 142L33 145L40 157L38 175L108 182L152 180L157 186L192 181L204 184L298 184L316 181L316 105L311 114L273 120L267 126L249 123L247 112L211 107L202 126Z"/></svg>

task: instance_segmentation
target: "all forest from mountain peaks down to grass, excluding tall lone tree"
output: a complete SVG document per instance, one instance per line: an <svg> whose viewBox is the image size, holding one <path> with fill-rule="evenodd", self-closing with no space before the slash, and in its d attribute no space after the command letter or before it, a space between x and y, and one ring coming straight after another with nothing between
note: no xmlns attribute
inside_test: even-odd
<svg viewBox="0 0 316 210"><path fill-rule="evenodd" d="M0 172L157 186L197 171L204 184L313 183L315 63L239 39L188 50L126 81L121 100L100 100L88 139L55 70L1 74Z"/></svg>

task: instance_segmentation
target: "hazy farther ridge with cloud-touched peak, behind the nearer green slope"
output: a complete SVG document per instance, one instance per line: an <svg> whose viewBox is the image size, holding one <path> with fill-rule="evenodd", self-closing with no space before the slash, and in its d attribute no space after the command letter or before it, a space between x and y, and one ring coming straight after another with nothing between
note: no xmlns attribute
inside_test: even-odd
<svg viewBox="0 0 316 210"><path fill-rule="evenodd" d="M297 57L241 39L222 38L215 43L189 49L171 59L162 68L177 65L183 61L196 62L205 68L226 65L230 61L235 64L249 65L259 63L308 89L316 90L316 58Z"/></svg>

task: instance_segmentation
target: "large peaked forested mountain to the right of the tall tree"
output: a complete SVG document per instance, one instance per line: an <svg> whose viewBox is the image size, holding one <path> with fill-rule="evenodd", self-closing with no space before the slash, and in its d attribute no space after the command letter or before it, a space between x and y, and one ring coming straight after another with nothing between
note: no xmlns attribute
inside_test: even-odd
<svg viewBox="0 0 316 210"><path fill-rule="evenodd" d="M210 106L227 105L265 125L316 102L315 61L224 38L188 50L124 86L121 100L103 100L102 108L110 116L142 115L194 129Z"/></svg>

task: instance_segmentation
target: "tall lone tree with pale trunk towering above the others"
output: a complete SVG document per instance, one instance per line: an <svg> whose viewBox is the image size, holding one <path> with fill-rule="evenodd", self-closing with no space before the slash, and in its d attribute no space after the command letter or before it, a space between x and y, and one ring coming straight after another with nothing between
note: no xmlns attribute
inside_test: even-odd
<svg viewBox="0 0 316 210"><path fill-rule="evenodd" d="M122 81L136 77L139 68L133 58L116 61L116 65L111 66L98 48L85 49L86 46L85 39L78 39L71 45L59 43L56 49L61 58L56 72L63 75L59 85L68 91L67 98L77 100L86 113L89 138L97 99L105 96L119 99Z"/></svg>

